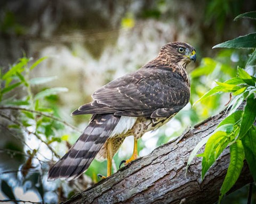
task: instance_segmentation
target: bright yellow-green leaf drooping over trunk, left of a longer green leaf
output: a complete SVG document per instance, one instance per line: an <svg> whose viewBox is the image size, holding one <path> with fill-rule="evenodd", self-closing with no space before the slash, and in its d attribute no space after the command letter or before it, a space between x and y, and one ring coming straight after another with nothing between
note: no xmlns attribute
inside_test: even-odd
<svg viewBox="0 0 256 204"><path fill-rule="evenodd" d="M209 140L206 142L202 160L202 180L204 179L208 169L215 162L215 148L217 148L220 145L220 141L223 141L226 137L226 132L218 131L211 135Z"/></svg>

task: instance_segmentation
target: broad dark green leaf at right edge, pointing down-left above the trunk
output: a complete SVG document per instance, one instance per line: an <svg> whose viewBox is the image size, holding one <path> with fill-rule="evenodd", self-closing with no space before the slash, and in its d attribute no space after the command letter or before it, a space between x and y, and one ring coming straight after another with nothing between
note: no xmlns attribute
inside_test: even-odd
<svg viewBox="0 0 256 204"><path fill-rule="evenodd" d="M251 128L256 117L256 99L251 94L246 101L244 114L242 115L241 128L238 134L239 138L243 138L246 132Z"/></svg>

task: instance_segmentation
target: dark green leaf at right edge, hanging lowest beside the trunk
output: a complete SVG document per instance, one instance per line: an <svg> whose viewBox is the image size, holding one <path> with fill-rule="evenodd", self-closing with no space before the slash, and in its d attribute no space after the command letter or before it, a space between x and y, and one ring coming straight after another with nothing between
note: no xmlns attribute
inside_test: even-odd
<svg viewBox="0 0 256 204"><path fill-rule="evenodd" d="M254 182L256 182L256 127L252 126L242 138L245 159L249 166Z"/></svg>

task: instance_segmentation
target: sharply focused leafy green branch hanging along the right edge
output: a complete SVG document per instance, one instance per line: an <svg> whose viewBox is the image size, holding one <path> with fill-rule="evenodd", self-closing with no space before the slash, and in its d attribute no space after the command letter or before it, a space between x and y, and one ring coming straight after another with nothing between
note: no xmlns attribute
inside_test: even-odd
<svg viewBox="0 0 256 204"><path fill-rule="evenodd" d="M238 15L239 18L256 19L256 11ZM213 48L256 48L256 33L241 36L225 43L218 44ZM256 49L249 56L246 67L253 67L253 62L256 60ZM216 82L218 86L212 88L195 103L203 101L215 94L221 92L230 92L234 98L231 99L227 110L228 116L220 122L217 129L197 144L191 153L187 168L193 158L196 156L199 149L205 145L204 152L197 155L202 157L202 180L207 171L216 162L222 151L229 146L230 164L220 189L219 202L225 194L236 183L246 159L249 165L250 172L256 181L256 127L254 126L256 118L256 78L247 73L241 67L237 67L237 77L231 78L225 82ZM246 101L244 109L238 107ZM194 106L193 105L193 106Z"/></svg>

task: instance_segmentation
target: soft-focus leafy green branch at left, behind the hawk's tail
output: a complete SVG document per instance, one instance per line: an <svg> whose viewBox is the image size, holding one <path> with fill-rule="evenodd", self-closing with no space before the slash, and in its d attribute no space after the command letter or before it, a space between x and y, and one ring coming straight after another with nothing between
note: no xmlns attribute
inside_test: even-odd
<svg viewBox="0 0 256 204"><path fill-rule="evenodd" d="M48 88L37 92L37 94L33 94L31 86L48 83L55 79L55 77L30 79L30 71L35 69L35 67L46 58L47 57L43 57L29 66L32 59L23 57L5 74L0 73L0 83L3 84L0 90L0 109L3 111L19 111L20 114L15 120L1 114L2 117L5 117L5 119L13 123L10 124L8 128L21 128L28 134L33 133L37 139L45 143L45 145L54 152L49 144L53 141L61 141L60 138L54 136L54 129L58 130L64 128L60 123L69 126L73 130L78 130L73 125L54 116L53 114L56 114L56 111L53 108L45 106L47 105L47 97L67 91L67 88ZM17 98L13 95L13 91L17 92L19 90L26 90L27 95L25 94L25 96ZM46 140L42 139L42 137L46 137ZM57 156L56 152L54 152L54 155Z"/></svg>

